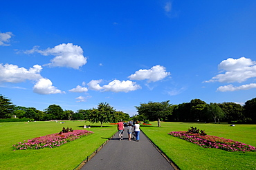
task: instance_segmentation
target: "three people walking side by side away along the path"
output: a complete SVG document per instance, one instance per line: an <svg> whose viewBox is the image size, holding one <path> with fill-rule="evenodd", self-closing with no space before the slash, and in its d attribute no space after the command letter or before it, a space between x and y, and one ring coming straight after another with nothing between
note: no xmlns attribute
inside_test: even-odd
<svg viewBox="0 0 256 170"><path fill-rule="evenodd" d="M118 136L119 140L122 140L122 135L125 131L125 125L122 122L122 120L118 123ZM138 124L138 121L135 122L135 124L132 124L131 122L128 124L127 127L127 133L128 133L128 139L131 140L131 134L135 134L135 139L138 142L140 140L140 124Z"/></svg>

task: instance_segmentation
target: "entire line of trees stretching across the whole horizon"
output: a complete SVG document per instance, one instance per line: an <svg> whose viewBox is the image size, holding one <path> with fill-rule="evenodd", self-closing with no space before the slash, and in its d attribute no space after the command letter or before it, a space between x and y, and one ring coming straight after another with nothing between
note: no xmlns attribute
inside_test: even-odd
<svg viewBox="0 0 256 170"><path fill-rule="evenodd" d="M116 123L118 120L158 120L179 122L228 122L228 123L256 123L256 98L247 100L244 105L232 102L205 103L200 99L192 99L190 103L179 105L170 104L170 100L163 102L140 103L135 106L138 114L129 117L122 111L116 111L109 103L99 103L91 109L63 110L59 105L50 105L44 111L34 107L12 105L10 99L0 95L0 118L31 118L33 120L88 120L91 123Z"/></svg>

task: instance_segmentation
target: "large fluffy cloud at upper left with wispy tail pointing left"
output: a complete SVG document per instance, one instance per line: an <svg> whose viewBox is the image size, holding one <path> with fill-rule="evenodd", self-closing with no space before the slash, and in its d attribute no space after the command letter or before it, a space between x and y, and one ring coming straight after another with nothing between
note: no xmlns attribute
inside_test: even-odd
<svg viewBox="0 0 256 170"><path fill-rule="evenodd" d="M38 48L38 46L35 46L32 50L26 50L24 53L32 54L37 52L44 56L53 55L55 58L51 60L51 63L48 63L52 67L72 67L79 69L79 67L87 63L86 57L83 56L82 48L73 45L73 43L62 43L46 50L39 50Z"/></svg>

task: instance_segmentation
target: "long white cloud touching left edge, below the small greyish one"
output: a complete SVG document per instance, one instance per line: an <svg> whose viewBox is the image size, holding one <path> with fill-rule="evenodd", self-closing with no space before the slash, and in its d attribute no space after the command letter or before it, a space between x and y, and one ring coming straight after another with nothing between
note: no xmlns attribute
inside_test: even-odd
<svg viewBox="0 0 256 170"><path fill-rule="evenodd" d="M34 65L27 70L26 68L18 67L17 65L0 64L0 83L21 83L26 80L37 81L39 78L42 78L40 75L41 70L41 65Z"/></svg>

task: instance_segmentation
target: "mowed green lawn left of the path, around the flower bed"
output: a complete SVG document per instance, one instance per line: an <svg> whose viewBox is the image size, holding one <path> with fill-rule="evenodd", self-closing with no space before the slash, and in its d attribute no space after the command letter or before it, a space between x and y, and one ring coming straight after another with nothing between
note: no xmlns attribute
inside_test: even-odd
<svg viewBox="0 0 256 170"><path fill-rule="evenodd" d="M62 127L83 129L84 121L0 123L0 169L74 169L87 156L116 133L116 125L91 124L94 134L68 142L54 149L13 151L12 145L62 131Z"/></svg>

